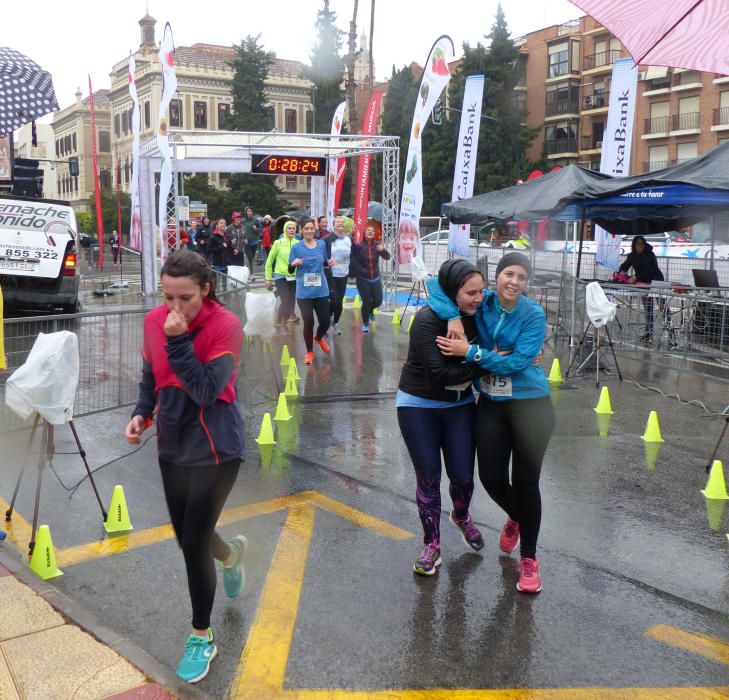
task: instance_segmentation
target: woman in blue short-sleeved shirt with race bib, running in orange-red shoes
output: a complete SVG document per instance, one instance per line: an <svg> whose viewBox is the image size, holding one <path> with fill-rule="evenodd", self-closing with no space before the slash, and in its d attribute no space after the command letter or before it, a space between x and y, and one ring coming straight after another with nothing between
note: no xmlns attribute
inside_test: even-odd
<svg viewBox="0 0 729 700"><path fill-rule="evenodd" d="M295 243L289 253L289 273L296 273L296 301L304 319L304 364L314 362L314 341L325 352L329 345L324 335L329 330L329 285L324 270L334 267L335 260L327 259L326 244L314 238L314 219L305 219L302 227L304 239ZM314 313L318 327L314 336Z"/></svg>

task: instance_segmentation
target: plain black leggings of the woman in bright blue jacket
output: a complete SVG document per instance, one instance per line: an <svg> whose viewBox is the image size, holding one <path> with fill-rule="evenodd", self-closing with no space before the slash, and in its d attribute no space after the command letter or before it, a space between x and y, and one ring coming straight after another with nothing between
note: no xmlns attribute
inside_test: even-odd
<svg viewBox="0 0 729 700"><path fill-rule="evenodd" d="M479 398L478 475L489 496L519 523L522 557L533 558L537 551L542 522L539 475L553 430L554 408L548 396L511 401Z"/></svg>

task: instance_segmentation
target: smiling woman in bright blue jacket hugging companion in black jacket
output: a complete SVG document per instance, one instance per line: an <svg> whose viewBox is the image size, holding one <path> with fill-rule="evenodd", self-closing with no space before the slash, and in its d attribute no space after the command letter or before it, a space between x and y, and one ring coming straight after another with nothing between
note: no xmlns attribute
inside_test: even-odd
<svg viewBox="0 0 729 700"><path fill-rule="evenodd" d="M539 476L554 430L554 409L544 371L534 364L547 324L542 307L524 296L530 272L529 258L522 253L504 255L496 266L496 291L486 292L476 314L478 342L469 343L452 324L448 335L460 330L460 337L436 342L445 356L464 357L490 372L481 379L476 410L479 478L508 515L499 537L501 550L514 551L521 539L517 588L539 593ZM430 306L440 318L460 315L437 280L431 279L428 287Z"/></svg>

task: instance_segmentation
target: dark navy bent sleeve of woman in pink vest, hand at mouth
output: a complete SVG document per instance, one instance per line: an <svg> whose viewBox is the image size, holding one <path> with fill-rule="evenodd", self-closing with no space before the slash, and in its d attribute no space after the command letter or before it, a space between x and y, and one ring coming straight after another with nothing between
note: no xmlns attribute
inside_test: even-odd
<svg viewBox="0 0 729 700"><path fill-rule="evenodd" d="M226 353L203 364L195 355L189 333L168 336L165 349L170 366L187 395L198 406L212 406L235 370L233 355Z"/></svg>

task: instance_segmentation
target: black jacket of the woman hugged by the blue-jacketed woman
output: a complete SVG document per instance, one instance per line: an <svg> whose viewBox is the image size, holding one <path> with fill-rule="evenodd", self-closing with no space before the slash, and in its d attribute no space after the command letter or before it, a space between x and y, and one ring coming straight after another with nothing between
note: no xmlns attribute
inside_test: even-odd
<svg viewBox="0 0 729 700"><path fill-rule="evenodd" d="M475 338L475 319L465 316L461 320L466 337ZM424 399L456 402L464 398L464 392L446 389L447 386L473 381L485 374L484 370L463 358L449 358L441 354L435 339L447 332L448 322L441 321L430 307L418 311L410 328L410 347L400 373L399 389Z"/></svg>

